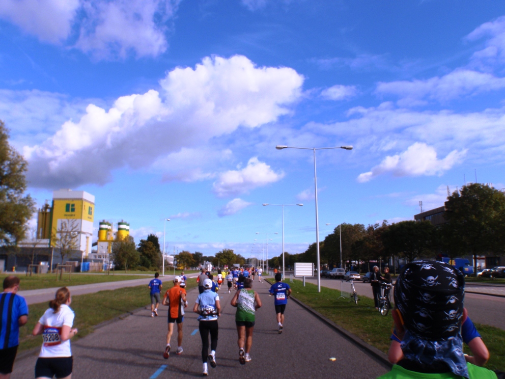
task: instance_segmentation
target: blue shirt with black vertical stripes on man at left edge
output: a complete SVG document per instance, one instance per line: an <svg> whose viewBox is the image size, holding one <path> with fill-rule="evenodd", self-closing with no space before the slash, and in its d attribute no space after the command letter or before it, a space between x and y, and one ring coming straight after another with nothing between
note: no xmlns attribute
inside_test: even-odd
<svg viewBox="0 0 505 379"><path fill-rule="evenodd" d="M24 297L12 292L0 293L0 349L19 345L19 317L28 315Z"/></svg>

